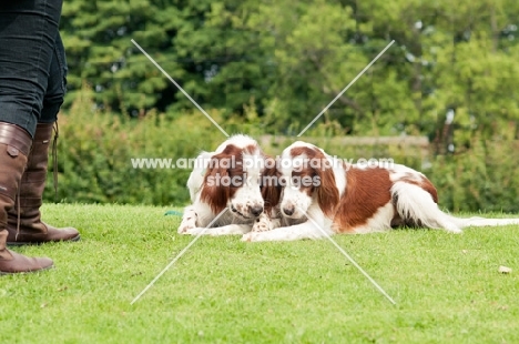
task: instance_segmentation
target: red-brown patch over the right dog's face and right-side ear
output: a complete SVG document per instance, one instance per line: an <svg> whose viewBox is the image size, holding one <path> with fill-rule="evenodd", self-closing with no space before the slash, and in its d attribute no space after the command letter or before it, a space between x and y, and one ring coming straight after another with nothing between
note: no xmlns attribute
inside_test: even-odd
<svg viewBox="0 0 519 344"><path fill-rule="evenodd" d="M339 192L335 182L334 170L332 165L326 164L328 160L325 154L317 148L308 146L296 146L291 150L291 155L296 158L298 155L306 155L308 162L305 166L302 166L301 171L293 171L292 176L299 178L299 181L309 176L314 180L315 176L318 176L319 185L318 186L301 186L299 190L306 192L311 195L313 192L316 192L317 202L323 213L333 219L335 215L335 210L339 203ZM311 161L314 161L312 165Z"/></svg>

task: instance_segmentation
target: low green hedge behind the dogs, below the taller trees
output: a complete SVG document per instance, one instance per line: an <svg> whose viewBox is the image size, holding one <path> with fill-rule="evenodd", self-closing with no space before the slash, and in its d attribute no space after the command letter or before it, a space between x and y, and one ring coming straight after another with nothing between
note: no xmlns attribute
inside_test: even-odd
<svg viewBox="0 0 519 344"><path fill-rule="evenodd" d="M218 111L211 115L230 134L243 132L262 141L265 152L276 155L299 138L263 136L261 119L253 105L245 120L223 121ZM238 131L242 129L242 131ZM519 141L511 140L517 129L509 125L501 140L485 141L477 132L470 148L457 154L424 155L418 146L337 144L329 123L302 138L324 148L329 154L346 159L391 158L423 171L437 186L440 205L452 211L519 212ZM507 134L509 134L507 136ZM507 139L508 138L508 139ZM212 151L225 136L199 111L174 118L151 113L129 120L94 110L89 92L83 92L68 113L60 115L58 143L58 196L52 174L45 200L58 202L128 203L182 205L189 201L185 186L190 170L133 169L132 158L195 158Z"/></svg>

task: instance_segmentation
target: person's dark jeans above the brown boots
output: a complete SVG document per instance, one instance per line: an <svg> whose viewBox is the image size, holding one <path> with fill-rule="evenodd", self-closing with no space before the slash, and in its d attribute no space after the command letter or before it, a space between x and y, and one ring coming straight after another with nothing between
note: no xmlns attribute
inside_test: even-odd
<svg viewBox="0 0 519 344"><path fill-rule="evenodd" d="M0 0L0 122L34 135L63 103L67 62L58 31L62 0Z"/></svg>

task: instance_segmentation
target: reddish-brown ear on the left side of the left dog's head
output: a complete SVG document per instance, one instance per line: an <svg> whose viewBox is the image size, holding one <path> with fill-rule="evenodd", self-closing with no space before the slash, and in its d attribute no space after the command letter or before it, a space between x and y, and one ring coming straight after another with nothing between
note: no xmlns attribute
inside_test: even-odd
<svg viewBox="0 0 519 344"><path fill-rule="evenodd" d="M230 159L230 156L217 154L211 159L200 195L203 202L210 204L214 213L222 212L227 206L230 198L230 185L225 184L226 179L228 179L228 171L226 168L221 166L222 159Z"/></svg>

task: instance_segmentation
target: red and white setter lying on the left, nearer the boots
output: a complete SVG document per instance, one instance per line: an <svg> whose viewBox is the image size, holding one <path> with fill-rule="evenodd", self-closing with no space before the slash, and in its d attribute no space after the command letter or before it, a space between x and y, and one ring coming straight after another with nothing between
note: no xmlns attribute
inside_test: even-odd
<svg viewBox="0 0 519 344"><path fill-rule="evenodd" d="M271 200L267 190L262 190L261 176L273 173L276 173L275 161L246 135L233 135L215 152L202 152L187 180L192 204L184 209L177 232L244 234L255 223L272 229L267 213L278 199Z"/></svg>

